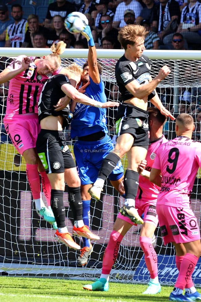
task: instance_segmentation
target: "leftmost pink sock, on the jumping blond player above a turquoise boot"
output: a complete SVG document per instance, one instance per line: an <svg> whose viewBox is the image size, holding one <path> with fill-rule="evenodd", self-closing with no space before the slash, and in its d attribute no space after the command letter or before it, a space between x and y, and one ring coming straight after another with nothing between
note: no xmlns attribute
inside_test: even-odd
<svg viewBox="0 0 201 302"><path fill-rule="evenodd" d="M38 164L29 165L26 164L27 179L30 189L32 191L33 199L39 199L41 197L40 176L38 173Z"/></svg>

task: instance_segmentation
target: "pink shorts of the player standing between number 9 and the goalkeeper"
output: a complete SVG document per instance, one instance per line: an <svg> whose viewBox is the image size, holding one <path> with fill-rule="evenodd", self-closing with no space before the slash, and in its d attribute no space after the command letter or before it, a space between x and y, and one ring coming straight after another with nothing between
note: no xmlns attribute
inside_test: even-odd
<svg viewBox="0 0 201 302"><path fill-rule="evenodd" d="M158 215L156 214L156 202L153 201L152 204L147 204L147 201L145 203L142 199L136 198L135 208L138 209L139 216L142 216L142 214L144 213L144 222L150 223L153 226L157 227ZM128 217L123 216L121 213L119 213L117 217L130 223L132 226L135 224Z"/></svg>

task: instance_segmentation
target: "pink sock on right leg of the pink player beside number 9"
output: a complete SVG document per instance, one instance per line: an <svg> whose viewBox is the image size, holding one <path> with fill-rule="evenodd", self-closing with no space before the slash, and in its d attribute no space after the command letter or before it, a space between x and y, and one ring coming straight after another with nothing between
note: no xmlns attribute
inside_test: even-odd
<svg viewBox="0 0 201 302"><path fill-rule="evenodd" d="M156 251L152 245L152 238L139 237L140 246L144 252L144 259L150 273L151 279L158 276L158 265Z"/></svg>

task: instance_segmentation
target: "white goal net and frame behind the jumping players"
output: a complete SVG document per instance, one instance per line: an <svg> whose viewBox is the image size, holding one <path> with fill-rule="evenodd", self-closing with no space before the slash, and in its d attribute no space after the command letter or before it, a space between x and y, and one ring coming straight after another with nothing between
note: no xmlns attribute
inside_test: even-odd
<svg viewBox="0 0 201 302"><path fill-rule="evenodd" d="M46 49L0 49L0 71L4 70L16 56L43 56ZM66 50L62 54L62 66L72 62L83 65L88 50ZM197 51L144 51L151 61L152 78L160 68L168 65L171 74L157 88L159 97L167 109L176 117L178 113L191 114L195 122L193 138L200 141L201 120L201 55ZM102 80L110 101L121 101L115 80L115 64L123 50L97 50L98 61L103 67ZM103 253L109 241L119 207L124 199L107 179L101 194L101 201L91 201L91 229L100 236L92 243L93 253L86 267L77 266L79 251L66 248L55 241L52 226L36 213L32 194L26 178L26 166L6 134L3 116L6 110L9 82L0 84L0 274L10 276L45 276L92 279L101 274ZM107 110L109 135L115 143L115 108ZM70 129L65 129L69 148L73 153L75 140L71 140ZM174 122L167 121L164 134L168 139L175 137ZM73 153L74 154L74 153ZM126 156L122 159L126 170ZM188 167L186 166L186 169ZM200 223L200 172L198 171L191 194L191 208ZM42 190L42 188L41 188ZM67 190L66 190L67 191ZM45 196L42 194L44 203ZM68 193L64 193L66 225L72 234L73 220L68 204ZM111 281L148 282L149 275L143 252L139 245L141 226L133 226L122 240L119 255L111 271ZM178 271L171 244L164 245L160 229L155 231L154 248L158 255L159 280L164 284L174 283ZM81 245L80 238L75 241ZM200 283L201 262L198 262L192 277Z"/></svg>

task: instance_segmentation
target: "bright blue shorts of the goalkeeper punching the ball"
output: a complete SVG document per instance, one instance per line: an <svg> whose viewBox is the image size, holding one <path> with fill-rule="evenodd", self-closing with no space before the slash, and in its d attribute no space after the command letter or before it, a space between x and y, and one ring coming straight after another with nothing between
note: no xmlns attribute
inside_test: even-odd
<svg viewBox="0 0 201 302"><path fill-rule="evenodd" d="M78 140L75 143L74 154L81 184L90 184L96 181L103 159L113 149L114 145L107 134L102 140L92 142ZM122 163L119 161L109 175L109 179L118 180L123 176L123 172Z"/></svg>

